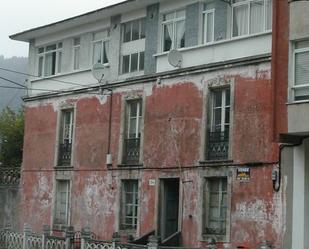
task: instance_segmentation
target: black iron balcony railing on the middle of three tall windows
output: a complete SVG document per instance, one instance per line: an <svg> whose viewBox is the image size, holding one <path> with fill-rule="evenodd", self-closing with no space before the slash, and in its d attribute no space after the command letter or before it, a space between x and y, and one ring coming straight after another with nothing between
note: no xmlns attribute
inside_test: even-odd
<svg viewBox="0 0 309 249"><path fill-rule="evenodd" d="M138 164L140 154L140 138L127 138L124 140L123 163Z"/></svg>

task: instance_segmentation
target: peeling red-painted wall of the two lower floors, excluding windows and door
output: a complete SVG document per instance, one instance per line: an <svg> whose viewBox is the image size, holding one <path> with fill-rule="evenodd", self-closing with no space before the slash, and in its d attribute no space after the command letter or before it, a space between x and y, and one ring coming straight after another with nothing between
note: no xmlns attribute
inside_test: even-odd
<svg viewBox="0 0 309 249"><path fill-rule="evenodd" d="M201 163L205 153L204 120L206 89L213 82L233 79L233 162L211 167ZM67 175L72 181L70 223L77 230L90 226L102 239L119 230L120 181L140 180L140 211L134 236L158 226L158 191L162 178L181 179L180 229L184 246L205 247L202 237L204 177L227 172L232 202L229 239L224 245L236 248L244 242L255 247L270 240L282 247L282 193L272 189L271 172L276 166L277 145L272 143L270 63L230 67L219 71L162 79L161 84L117 88L113 96L111 152L107 168L109 97L81 94L28 102L22 177L22 220L34 230L52 224L55 179ZM138 94L145 103L143 167L118 165L121 110L126 96ZM67 103L75 106L75 137L72 169L55 171L57 115ZM250 162L250 163L249 163ZM259 167L251 163L259 162ZM236 179L236 168L251 168L249 182ZM206 166L206 167L205 167ZM183 168L182 170L179 167ZM155 180L150 185L149 180ZM33 214L36 214L35 217ZM121 232L123 238L127 233Z"/></svg>

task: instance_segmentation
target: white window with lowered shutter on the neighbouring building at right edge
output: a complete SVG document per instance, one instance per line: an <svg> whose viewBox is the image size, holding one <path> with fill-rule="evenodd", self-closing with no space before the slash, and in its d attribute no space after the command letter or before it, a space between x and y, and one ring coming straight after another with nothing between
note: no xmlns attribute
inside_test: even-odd
<svg viewBox="0 0 309 249"><path fill-rule="evenodd" d="M309 40L294 44L294 100L309 99Z"/></svg>

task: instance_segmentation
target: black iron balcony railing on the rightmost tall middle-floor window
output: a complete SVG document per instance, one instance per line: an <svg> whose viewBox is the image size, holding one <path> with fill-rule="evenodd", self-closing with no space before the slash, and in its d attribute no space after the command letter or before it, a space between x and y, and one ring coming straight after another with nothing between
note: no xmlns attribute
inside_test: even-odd
<svg viewBox="0 0 309 249"><path fill-rule="evenodd" d="M224 160L229 153L229 132L209 131L207 141L207 160Z"/></svg>

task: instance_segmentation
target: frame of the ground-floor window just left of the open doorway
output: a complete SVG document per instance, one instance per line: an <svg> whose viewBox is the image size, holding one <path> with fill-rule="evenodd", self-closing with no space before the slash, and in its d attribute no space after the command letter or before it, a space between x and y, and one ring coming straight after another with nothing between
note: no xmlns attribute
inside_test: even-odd
<svg viewBox="0 0 309 249"><path fill-rule="evenodd" d="M126 193L128 193L126 189L126 184L134 182L133 186L133 192L134 194L134 201L137 200L137 204L135 203L129 203L127 202L126 199ZM140 201L139 201L139 181L137 179L123 179L121 180L121 214L120 214L120 230L131 230L131 231L136 231L139 223L139 209L140 209ZM135 185L136 184L136 185ZM126 208L128 205L132 206L132 224L126 224ZM135 207L137 206L137 211L135 210ZM135 212L136 211L136 212ZM136 224L135 224L136 221ZM130 227L126 226L131 225Z"/></svg>

